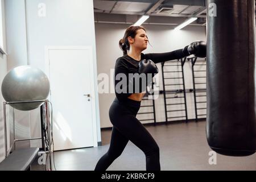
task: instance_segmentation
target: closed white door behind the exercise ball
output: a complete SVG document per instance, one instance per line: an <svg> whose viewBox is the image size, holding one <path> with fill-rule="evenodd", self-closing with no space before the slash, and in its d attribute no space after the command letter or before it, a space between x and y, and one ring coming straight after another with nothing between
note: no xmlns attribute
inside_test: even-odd
<svg viewBox="0 0 256 182"><path fill-rule="evenodd" d="M93 146L91 49L48 49L54 150Z"/></svg>

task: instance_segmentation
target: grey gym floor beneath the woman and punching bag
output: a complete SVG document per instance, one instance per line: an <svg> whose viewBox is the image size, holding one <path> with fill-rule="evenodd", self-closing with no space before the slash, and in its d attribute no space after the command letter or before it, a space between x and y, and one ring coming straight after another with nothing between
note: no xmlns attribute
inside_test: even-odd
<svg viewBox="0 0 256 182"><path fill-rule="evenodd" d="M233 157L217 154L217 164L209 164L212 151L205 134L205 121L171 123L146 126L160 148L162 171L175 170L256 170L256 154ZM109 148L111 130L102 131L102 146L55 152L55 167L59 170L91 171L98 159ZM33 165L32 170L43 169ZM144 171L146 159L143 152L129 142L122 155L108 168L109 171Z"/></svg>

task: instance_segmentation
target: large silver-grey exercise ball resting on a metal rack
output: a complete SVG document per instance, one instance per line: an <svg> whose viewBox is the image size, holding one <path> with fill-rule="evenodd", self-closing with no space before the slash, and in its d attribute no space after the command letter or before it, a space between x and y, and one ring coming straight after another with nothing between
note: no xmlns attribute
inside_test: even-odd
<svg viewBox="0 0 256 182"><path fill-rule="evenodd" d="M38 68L28 65L12 69L2 82L2 95L6 102L46 100L49 95L49 80ZM43 102L10 104L18 110L33 110Z"/></svg>

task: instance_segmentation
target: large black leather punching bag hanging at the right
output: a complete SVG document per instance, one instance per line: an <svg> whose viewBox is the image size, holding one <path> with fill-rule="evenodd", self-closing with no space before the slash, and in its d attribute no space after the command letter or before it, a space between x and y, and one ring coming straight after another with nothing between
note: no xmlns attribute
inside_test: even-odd
<svg viewBox="0 0 256 182"><path fill-rule="evenodd" d="M207 141L222 155L256 150L254 0L208 0Z"/></svg>

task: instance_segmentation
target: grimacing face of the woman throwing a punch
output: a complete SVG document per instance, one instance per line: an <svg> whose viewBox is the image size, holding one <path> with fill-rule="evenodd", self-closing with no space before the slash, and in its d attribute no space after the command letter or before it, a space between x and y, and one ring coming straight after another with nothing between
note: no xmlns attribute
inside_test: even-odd
<svg viewBox="0 0 256 182"><path fill-rule="evenodd" d="M131 46L133 46L134 48L137 48L141 51L143 51L144 49L147 48L147 34L143 29L139 29L137 30L137 34L135 35L135 38L132 39Z"/></svg>

